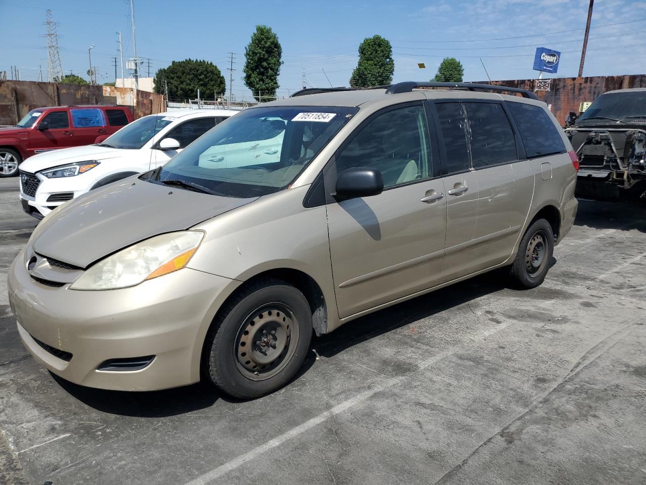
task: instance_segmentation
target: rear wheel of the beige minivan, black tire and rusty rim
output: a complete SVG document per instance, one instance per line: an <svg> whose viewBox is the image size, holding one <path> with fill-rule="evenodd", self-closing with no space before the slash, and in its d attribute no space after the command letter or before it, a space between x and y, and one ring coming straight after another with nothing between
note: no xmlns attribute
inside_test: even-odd
<svg viewBox="0 0 646 485"><path fill-rule="evenodd" d="M545 279L554 253L554 233L545 219L532 222L518 247L510 268L512 283L519 288L536 288Z"/></svg>

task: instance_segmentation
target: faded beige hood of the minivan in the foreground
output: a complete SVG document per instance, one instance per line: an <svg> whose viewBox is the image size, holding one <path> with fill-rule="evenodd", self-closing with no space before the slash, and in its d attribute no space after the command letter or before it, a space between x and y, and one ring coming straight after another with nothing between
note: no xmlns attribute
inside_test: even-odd
<svg viewBox="0 0 646 485"><path fill-rule="evenodd" d="M67 202L34 230L37 253L87 268L149 237L190 228L253 202L140 180L137 175Z"/></svg>

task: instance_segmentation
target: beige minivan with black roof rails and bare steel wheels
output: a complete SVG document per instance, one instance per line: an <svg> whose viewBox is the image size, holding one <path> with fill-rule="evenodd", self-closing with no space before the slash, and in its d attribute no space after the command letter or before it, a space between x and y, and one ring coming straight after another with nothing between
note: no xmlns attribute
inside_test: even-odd
<svg viewBox="0 0 646 485"><path fill-rule="evenodd" d="M277 139L269 157L240 149ZM26 348L71 382L262 396L312 331L494 268L540 285L577 168L531 92L306 90L52 211L10 268L10 304Z"/></svg>

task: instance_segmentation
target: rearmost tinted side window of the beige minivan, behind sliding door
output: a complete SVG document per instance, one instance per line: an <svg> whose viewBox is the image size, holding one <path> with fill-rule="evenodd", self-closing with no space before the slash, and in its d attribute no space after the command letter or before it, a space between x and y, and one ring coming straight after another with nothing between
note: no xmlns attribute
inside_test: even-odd
<svg viewBox="0 0 646 485"><path fill-rule="evenodd" d="M565 145L552 118L539 106L507 102L521 133L527 158L563 153Z"/></svg>

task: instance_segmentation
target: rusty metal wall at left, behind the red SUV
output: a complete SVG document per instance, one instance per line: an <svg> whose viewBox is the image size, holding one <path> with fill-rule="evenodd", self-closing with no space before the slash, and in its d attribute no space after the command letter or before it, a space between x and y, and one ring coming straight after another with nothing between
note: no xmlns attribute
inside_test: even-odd
<svg viewBox="0 0 646 485"><path fill-rule="evenodd" d="M15 125L32 109L78 104L119 104L132 109L134 118L165 111L165 99L156 92L110 86L37 81L0 81L0 125Z"/></svg>

